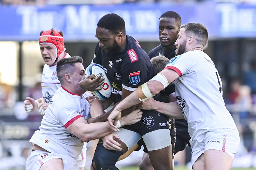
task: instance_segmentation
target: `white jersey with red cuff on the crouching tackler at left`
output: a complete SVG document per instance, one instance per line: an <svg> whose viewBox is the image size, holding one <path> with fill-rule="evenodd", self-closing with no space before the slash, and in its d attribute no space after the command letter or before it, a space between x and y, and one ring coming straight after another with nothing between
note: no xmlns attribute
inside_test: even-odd
<svg viewBox="0 0 256 170"><path fill-rule="evenodd" d="M91 118L90 104L85 99L89 96L87 92L79 96L60 87L47 108L40 130L35 131L29 143L32 146L37 144L51 153L65 154L77 159L84 142L66 128L80 117L86 120Z"/></svg>

